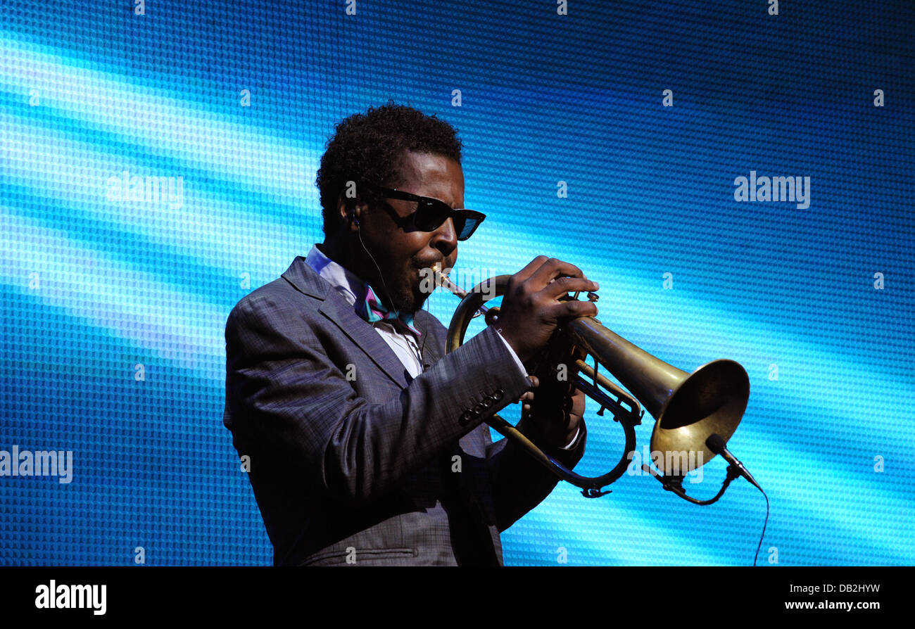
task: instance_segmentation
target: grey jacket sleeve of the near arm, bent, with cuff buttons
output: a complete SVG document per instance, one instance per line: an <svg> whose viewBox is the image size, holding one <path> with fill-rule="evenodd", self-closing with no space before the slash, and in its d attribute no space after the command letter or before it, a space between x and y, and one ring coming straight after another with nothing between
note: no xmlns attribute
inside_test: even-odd
<svg viewBox="0 0 915 629"><path fill-rule="evenodd" d="M529 386L498 333L487 329L399 394L366 400L299 306L267 295L242 299L232 310L227 426L256 440L262 452L291 457L339 500L384 495Z"/></svg>

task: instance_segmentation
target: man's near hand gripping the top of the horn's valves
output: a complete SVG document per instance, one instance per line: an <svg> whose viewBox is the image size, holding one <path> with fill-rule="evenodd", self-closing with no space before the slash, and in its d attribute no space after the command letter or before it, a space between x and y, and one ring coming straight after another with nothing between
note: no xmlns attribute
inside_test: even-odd
<svg viewBox="0 0 915 629"><path fill-rule="evenodd" d="M596 316L597 305L565 300L566 293L597 291L574 264L537 256L511 276L499 311L501 335L522 362L546 345L556 326L579 316Z"/></svg>

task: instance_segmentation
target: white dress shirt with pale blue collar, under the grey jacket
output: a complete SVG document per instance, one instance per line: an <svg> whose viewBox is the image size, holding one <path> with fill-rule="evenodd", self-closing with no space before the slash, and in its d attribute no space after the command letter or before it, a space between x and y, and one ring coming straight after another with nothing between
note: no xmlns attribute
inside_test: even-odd
<svg viewBox="0 0 915 629"><path fill-rule="evenodd" d="M365 303L368 285L350 272L349 269L330 260L322 251L318 250L317 245L313 246L311 251L308 251L305 261L308 266L318 273L318 275L327 280L348 304L355 307L357 303ZM357 315L364 318L363 313L361 313L358 308L355 308L355 310ZM416 336L414 336L412 332L402 333L387 320L376 321L371 325L375 328L375 332L384 339L384 342L391 347L393 353L401 363L404 364L404 368L406 368L411 378L416 378L423 372L423 357L420 353L419 345L416 343ZM505 344L505 347L509 350L511 357L514 358L519 371L522 375L526 376L527 370L524 369L521 359L515 354L514 349L511 348L509 342L506 341L501 334L499 337L502 339L502 343ZM575 442L578 440L579 432L581 432L581 429L576 432L572 441L563 448L564 450L571 450L574 447Z"/></svg>

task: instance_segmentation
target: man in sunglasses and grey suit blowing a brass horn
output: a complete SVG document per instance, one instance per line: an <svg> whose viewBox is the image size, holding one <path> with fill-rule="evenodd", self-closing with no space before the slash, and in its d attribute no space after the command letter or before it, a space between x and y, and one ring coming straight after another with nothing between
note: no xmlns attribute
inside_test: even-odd
<svg viewBox="0 0 915 629"><path fill-rule="evenodd" d="M557 480L482 422L523 398L529 438L569 467L584 453L583 394L535 397L523 364L558 323L597 314L564 299L596 283L540 256L498 329L447 355L422 310L424 270L452 268L479 221L453 209L456 133L391 103L339 123L318 171L325 242L231 311L224 423L274 565L501 565L500 532Z"/></svg>

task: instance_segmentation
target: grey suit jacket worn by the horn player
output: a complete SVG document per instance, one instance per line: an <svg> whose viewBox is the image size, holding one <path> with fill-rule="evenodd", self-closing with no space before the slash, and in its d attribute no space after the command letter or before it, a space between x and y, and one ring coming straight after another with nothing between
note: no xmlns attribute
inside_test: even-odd
<svg viewBox="0 0 915 629"><path fill-rule="evenodd" d="M445 355L445 326L425 311L414 325L427 337L411 379L301 256L232 309L223 421L250 457L274 565L501 564L499 533L553 490L481 425L529 386L498 333ZM585 441L548 452L572 467Z"/></svg>

